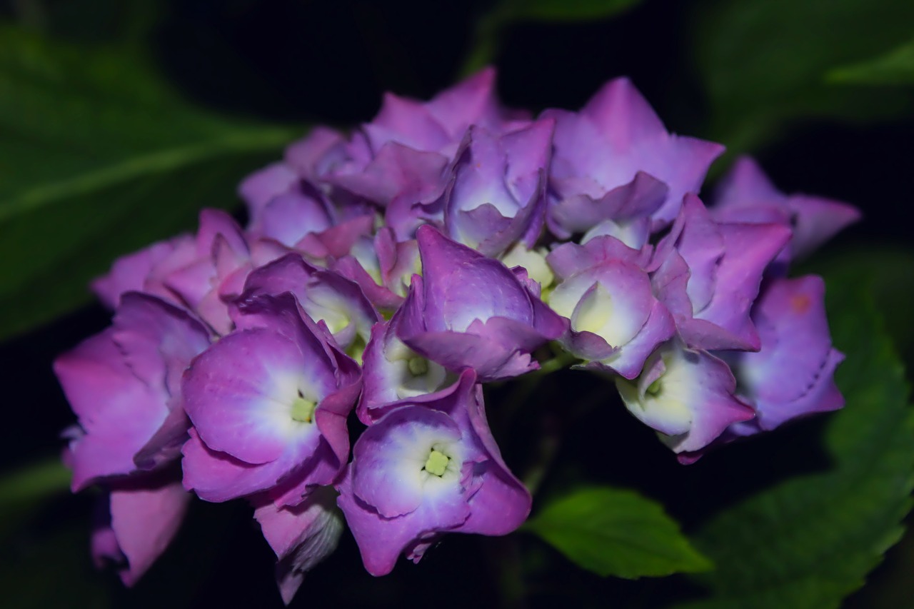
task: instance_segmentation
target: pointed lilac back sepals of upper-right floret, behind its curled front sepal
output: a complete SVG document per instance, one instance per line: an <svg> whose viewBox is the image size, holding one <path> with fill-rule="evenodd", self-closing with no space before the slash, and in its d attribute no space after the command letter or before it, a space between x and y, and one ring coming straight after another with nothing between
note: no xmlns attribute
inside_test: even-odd
<svg viewBox="0 0 914 609"><path fill-rule="evenodd" d="M620 78L600 89L579 113L549 110L557 119L552 184L561 192L600 198L639 171L669 192L651 214L654 229L671 222L685 193L695 193L724 147L669 134L632 82ZM570 184L567 184L570 182Z"/></svg>

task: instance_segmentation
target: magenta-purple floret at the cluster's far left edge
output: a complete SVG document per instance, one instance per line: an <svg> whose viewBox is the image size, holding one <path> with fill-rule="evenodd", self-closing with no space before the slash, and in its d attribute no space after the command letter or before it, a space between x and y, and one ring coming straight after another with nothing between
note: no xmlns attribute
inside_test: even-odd
<svg viewBox="0 0 914 609"><path fill-rule="evenodd" d="M112 327L60 356L54 370L80 422L73 490L173 460L186 440L180 375L209 345L206 329L146 294L123 294Z"/></svg>

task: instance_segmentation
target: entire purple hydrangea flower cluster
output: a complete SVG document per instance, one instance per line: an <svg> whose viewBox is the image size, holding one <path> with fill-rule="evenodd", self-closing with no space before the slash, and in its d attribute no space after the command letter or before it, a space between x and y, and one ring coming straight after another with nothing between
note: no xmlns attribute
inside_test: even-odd
<svg viewBox="0 0 914 609"><path fill-rule="evenodd" d="M447 532L508 533L531 497L482 388L547 343L684 462L840 407L823 282L786 271L857 212L749 159L706 207L722 150L629 80L532 118L491 69L290 145L239 187L246 228L205 210L93 283L112 326L55 369L73 489L106 491L94 555L130 584L193 494L244 497L288 602L345 525L375 575Z"/></svg>

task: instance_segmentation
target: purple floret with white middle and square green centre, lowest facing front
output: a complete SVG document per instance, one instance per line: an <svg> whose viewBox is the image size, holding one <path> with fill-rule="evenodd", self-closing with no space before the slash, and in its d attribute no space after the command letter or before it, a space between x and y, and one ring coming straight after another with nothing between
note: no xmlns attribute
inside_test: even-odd
<svg viewBox="0 0 914 609"><path fill-rule="evenodd" d="M447 391L401 404L368 427L339 485L340 508L373 575L401 552L419 561L446 532L505 535L530 495L508 470L472 370Z"/></svg>

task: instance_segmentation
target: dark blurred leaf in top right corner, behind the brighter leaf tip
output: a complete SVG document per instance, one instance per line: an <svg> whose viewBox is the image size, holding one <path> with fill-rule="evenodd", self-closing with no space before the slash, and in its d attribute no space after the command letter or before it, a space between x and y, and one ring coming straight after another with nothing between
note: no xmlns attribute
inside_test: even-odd
<svg viewBox="0 0 914 609"><path fill-rule="evenodd" d="M909 0L717 0L696 3L696 64L710 104L706 134L734 153L757 149L792 120L892 118L905 91L835 90L830 69L910 39Z"/></svg>

